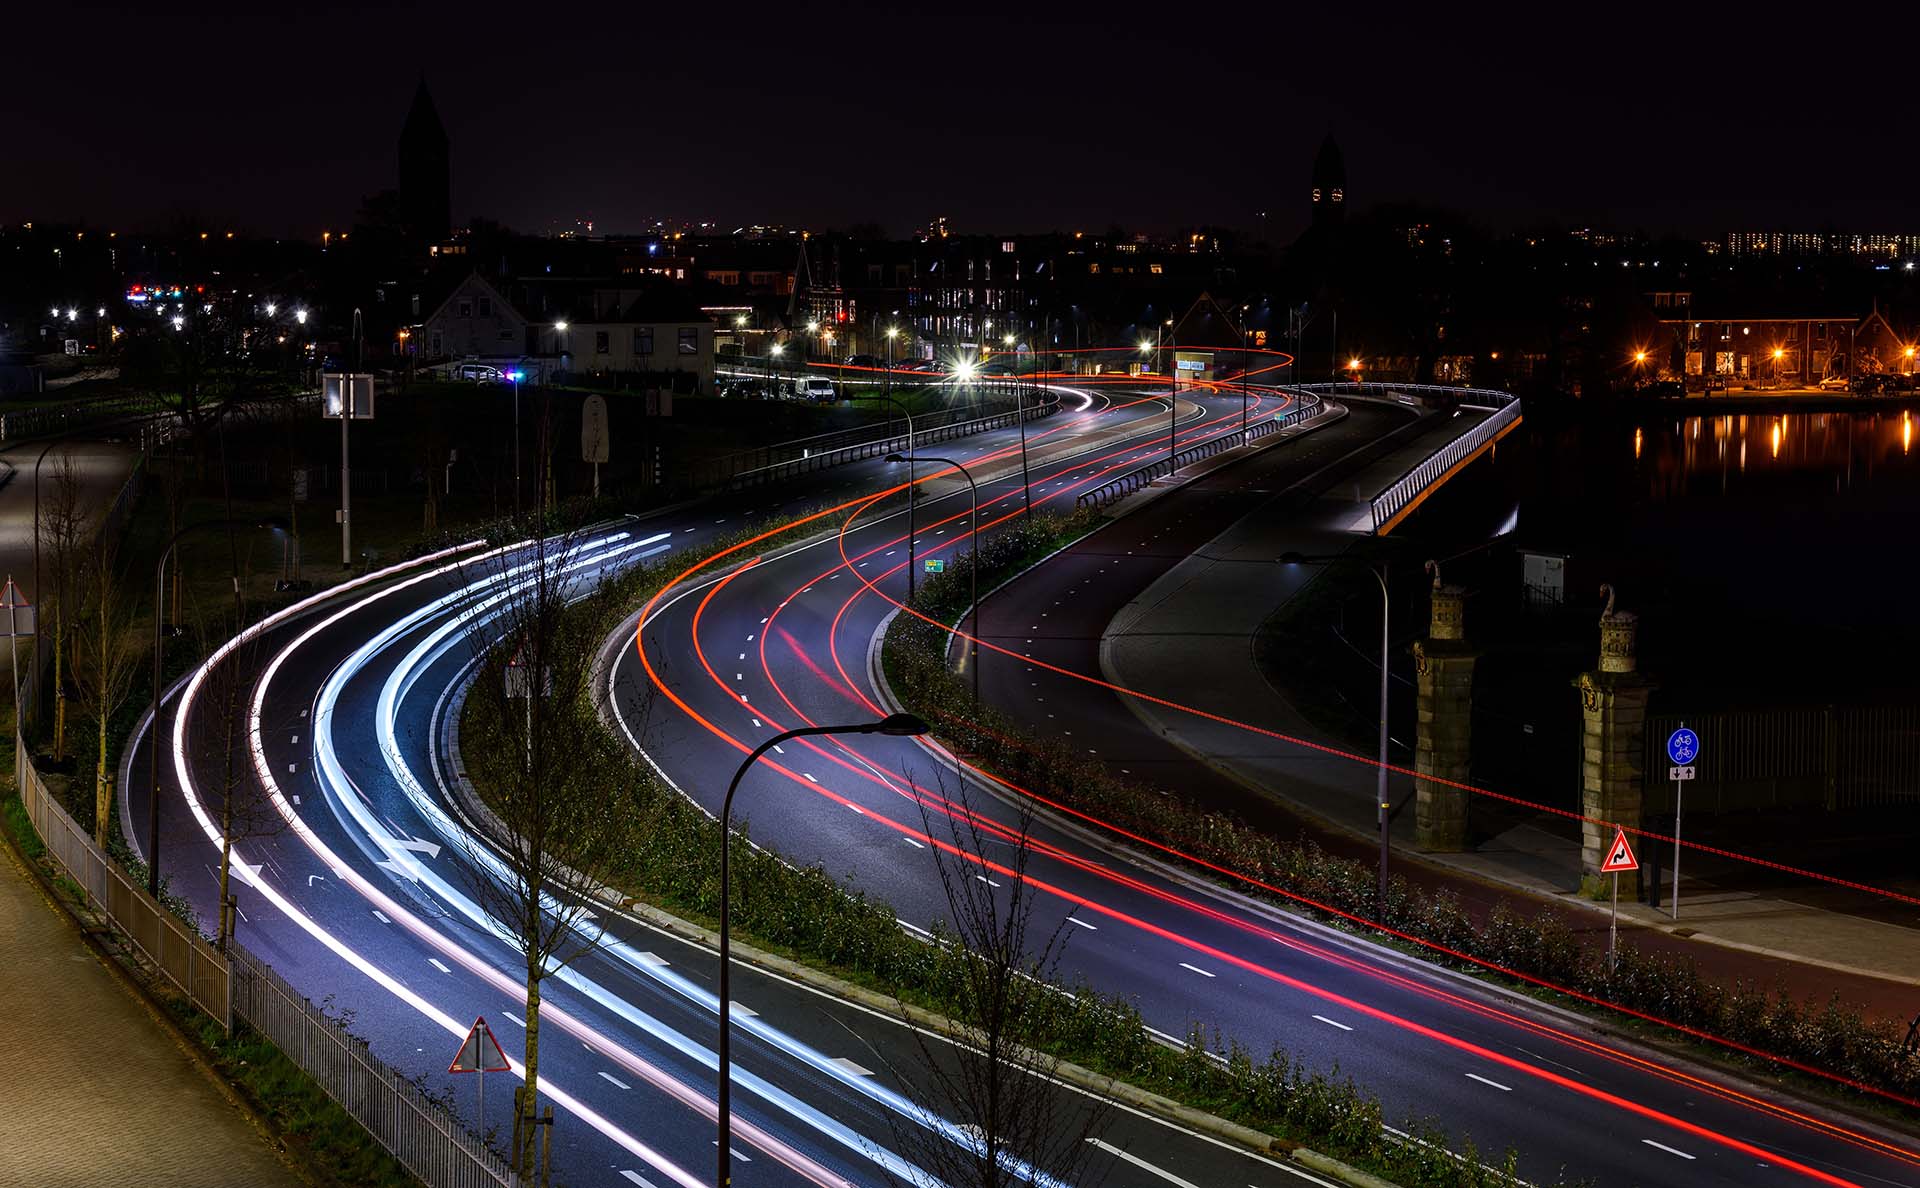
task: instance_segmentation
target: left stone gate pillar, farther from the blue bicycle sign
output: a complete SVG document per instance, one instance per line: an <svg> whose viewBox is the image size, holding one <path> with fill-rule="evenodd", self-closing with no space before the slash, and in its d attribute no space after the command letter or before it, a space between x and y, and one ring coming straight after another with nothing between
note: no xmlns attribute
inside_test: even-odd
<svg viewBox="0 0 1920 1188"><path fill-rule="evenodd" d="M1427 639L1413 641L1419 683L1419 741L1413 770L1436 779L1413 781L1415 844L1427 852L1467 848L1465 783L1473 760L1473 666L1480 653L1467 643L1467 597L1434 578Z"/></svg>

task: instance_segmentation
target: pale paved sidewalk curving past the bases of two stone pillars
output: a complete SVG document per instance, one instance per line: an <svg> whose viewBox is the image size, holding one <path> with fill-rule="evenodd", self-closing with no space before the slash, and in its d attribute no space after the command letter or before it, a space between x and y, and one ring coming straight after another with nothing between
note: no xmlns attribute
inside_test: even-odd
<svg viewBox="0 0 1920 1188"><path fill-rule="evenodd" d="M1363 507L1367 480L1394 466L1380 461L1354 480L1315 499L1298 514L1256 509L1154 580L1106 626L1100 670L1116 685L1165 697L1196 710L1225 714L1284 735L1332 743L1275 689L1254 660L1254 633L1313 578L1308 566L1279 566L1288 551L1340 553L1356 537L1344 530ZM1597 639L1596 639L1597 649ZM1375 770L1348 758L1313 752L1254 735L1194 714L1127 699L1127 706L1158 735L1213 772L1283 800L1348 844L1377 837ZM1392 839L1413 852L1413 781L1390 781ZM1538 798L1538 796L1532 796ZM1572 823L1536 814L1532 820L1490 814L1475 800L1494 837L1469 854L1427 854L1428 873L1417 881L1455 885L1467 902L1486 902L1496 889L1551 900L1588 912L1601 942L1605 904L1574 894L1578 837ZM1402 866L1407 871L1407 866ZM1407 871L1411 873L1411 871ZM1703 971L1755 979L1784 979L1803 994L1843 996L1876 1011L1907 1017L1920 1006L1920 912L1899 914L1916 927L1824 910L1774 894L1728 891L1690 877L1682 864L1682 921L1645 904L1620 904L1620 925L1644 948L1684 952ZM1478 885L1478 887L1473 887ZM1809 887L1814 898L1816 889ZM1632 927L1640 925L1640 927ZM1678 933L1676 933L1678 929ZM1709 944L1701 944L1709 942ZM1818 969L1812 969L1818 967Z"/></svg>

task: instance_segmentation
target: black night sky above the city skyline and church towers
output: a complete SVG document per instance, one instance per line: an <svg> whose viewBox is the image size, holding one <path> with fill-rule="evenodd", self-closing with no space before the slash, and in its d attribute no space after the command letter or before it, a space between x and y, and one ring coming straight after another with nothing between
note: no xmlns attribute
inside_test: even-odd
<svg viewBox="0 0 1920 1188"><path fill-rule="evenodd" d="M455 221L536 232L1269 211L1290 238L1329 131L1359 207L1920 230L1910 12L1805 40L1761 6L1041 8L33 6L8 15L0 221L344 226L394 186L424 71Z"/></svg>

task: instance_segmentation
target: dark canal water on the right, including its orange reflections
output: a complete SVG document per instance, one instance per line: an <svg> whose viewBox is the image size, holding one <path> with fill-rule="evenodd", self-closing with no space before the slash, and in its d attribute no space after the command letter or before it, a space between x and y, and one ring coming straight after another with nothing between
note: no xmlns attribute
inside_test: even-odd
<svg viewBox="0 0 1920 1188"><path fill-rule="evenodd" d="M1668 706L1912 701L1916 436L1920 411L1899 409L1530 413L1402 549L1448 557L1498 537L1448 580L1476 587L1482 628L1517 612L1582 666L1611 583L1642 618L1642 670ZM1565 557L1561 610L1526 591L1528 572L1551 570L1528 553Z"/></svg>

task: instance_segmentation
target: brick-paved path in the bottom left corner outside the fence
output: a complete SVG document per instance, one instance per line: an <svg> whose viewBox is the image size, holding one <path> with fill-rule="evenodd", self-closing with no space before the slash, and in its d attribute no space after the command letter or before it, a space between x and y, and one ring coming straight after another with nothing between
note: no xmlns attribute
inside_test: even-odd
<svg viewBox="0 0 1920 1188"><path fill-rule="evenodd" d="M0 843L0 1184L301 1184Z"/></svg>

